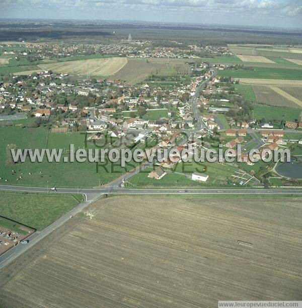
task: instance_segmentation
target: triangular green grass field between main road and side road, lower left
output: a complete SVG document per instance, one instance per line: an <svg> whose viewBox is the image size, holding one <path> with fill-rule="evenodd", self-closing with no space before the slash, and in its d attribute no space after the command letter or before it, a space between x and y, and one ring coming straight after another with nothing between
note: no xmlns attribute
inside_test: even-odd
<svg viewBox="0 0 302 308"><path fill-rule="evenodd" d="M42 230L77 206L82 195L0 191L0 216Z"/></svg>

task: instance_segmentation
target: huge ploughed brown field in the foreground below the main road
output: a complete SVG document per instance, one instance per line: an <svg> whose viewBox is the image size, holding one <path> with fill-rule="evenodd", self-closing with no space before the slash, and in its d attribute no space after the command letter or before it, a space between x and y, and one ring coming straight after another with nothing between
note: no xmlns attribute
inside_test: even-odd
<svg viewBox="0 0 302 308"><path fill-rule="evenodd" d="M102 199L0 271L0 306L298 300L301 209L282 196Z"/></svg>

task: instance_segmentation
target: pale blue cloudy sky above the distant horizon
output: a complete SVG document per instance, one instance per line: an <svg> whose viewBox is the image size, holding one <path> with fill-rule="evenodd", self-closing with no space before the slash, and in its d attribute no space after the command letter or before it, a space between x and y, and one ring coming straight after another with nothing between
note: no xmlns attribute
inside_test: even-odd
<svg viewBox="0 0 302 308"><path fill-rule="evenodd" d="M133 20L302 30L302 0L0 0L0 18Z"/></svg>

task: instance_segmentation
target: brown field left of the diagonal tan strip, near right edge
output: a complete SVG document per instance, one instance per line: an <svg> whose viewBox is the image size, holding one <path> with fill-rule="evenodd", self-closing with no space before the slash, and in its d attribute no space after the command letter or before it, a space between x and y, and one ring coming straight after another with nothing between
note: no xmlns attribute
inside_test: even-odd
<svg viewBox="0 0 302 308"><path fill-rule="evenodd" d="M276 91L275 89L277 87L254 85L253 88L256 99L259 102L264 102L265 104L279 107L299 107L299 104L292 101L290 97L285 97L285 95L282 95Z"/></svg>

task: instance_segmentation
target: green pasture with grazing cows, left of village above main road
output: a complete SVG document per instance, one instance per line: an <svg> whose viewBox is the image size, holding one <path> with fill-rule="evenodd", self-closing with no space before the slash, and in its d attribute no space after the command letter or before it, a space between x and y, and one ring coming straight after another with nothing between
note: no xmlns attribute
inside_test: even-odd
<svg viewBox="0 0 302 308"><path fill-rule="evenodd" d="M16 144L18 148L42 149L42 148L61 148L63 156L67 156L70 144L74 144L75 149L83 148L85 134L53 134L46 128L22 129L19 126L0 127L0 155L3 157L0 162L0 180L1 184L22 185L22 186L43 186L46 187L74 187L84 188L93 187L108 182L121 176L127 170L135 167L135 164L126 164L126 168L120 166L120 162L96 163L89 161L80 162L47 162L32 163L26 159L24 163L6 165L6 146L7 144ZM90 148L96 148L89 145ZM16 173L12 174L12 170ZM29 174L31 173L31 174ZM22 178L20 178L20 176ZM5 180L8 180L5 182Z"/></svg>

